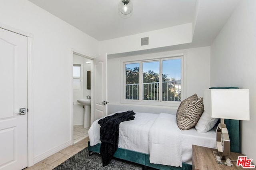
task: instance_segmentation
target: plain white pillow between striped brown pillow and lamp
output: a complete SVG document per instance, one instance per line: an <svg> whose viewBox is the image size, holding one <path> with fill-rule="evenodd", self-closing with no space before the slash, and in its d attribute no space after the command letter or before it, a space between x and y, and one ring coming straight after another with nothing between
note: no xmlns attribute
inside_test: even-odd
<svg viewBox="0 0 256 170"><path fill-rule="evenodd" d="M214 127L217 121L218 118L212 118L206 111L204 111L195 128L200 133L208 132Z"/></svg>

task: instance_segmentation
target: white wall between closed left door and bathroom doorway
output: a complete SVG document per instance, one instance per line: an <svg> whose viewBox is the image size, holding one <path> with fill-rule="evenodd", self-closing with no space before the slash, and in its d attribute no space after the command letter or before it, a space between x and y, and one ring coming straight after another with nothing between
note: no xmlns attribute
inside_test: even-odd
<svg viewBox="0 0 256 170"><path fill-rule="evenodd" d="M1 0L0 23L33 34L34 162L68 144L71 48L98 55L98 41L27 0Z"/></svg>

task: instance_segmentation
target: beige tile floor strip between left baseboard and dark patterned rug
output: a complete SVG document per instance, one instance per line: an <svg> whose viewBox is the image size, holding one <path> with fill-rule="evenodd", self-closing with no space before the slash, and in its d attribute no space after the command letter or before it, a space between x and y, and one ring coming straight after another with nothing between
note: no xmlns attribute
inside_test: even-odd
<svg viewBox="0 0 256 170"><path fill-rule="evenodd" d="M64 148L63 150L60 150L60 152L57 152L56 154L45 158L41 162L34 164L34 166L25 168L24 170L52 170L74 154L86 148L88 146L88 140L89 137L86 137L79 142L76 142L75 144Z"/></svg>

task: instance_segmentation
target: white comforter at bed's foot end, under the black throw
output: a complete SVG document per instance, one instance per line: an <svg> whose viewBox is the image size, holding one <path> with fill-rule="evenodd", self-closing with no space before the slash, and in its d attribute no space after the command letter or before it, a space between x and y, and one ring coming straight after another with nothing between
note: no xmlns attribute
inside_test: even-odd
<svg viewBox="0 0 256 170"><path fill-rule="evenodd" d="M115 113L112 113L111 115L113 114ZM158 115L136 113L134 116L134 120L120 123L118 147L149 154L148 134L150 127ZM98 124L98 120L92 123L88 134L91 146L100 143L100 125Z"/></svg>

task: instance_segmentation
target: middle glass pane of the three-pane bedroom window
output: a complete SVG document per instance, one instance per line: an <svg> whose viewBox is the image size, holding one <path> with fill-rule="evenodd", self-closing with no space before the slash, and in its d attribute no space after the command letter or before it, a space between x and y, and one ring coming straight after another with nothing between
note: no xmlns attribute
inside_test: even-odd
<svg viewBox="0 0 256 170"><path fill-rule="evenodd" d="M159 61L142 63L143 100L159 100Z"/></svg>

